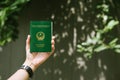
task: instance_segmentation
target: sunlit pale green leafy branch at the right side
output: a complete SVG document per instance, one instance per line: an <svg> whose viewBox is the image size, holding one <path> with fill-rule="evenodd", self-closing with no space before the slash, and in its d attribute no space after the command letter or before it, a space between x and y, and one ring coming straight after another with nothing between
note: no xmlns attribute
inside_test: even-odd
<svg viewBox="0 0 120 80"><path fill-rule="evenodd" d="M109 5L103 3L102 5L98 5L97 9L100 10L100 12L97 14L97 19L101 21L103 28L97 28L94 31L95 35L93 37L88 37L85 42L77 45L77 51L80 53L86 53L89 58L91 58L92 54L94 53L99 53L109 49L115 51L116 53L120 53L120 44L118 44L118 38L112 38L109 42L107 42L109 38L106 38L105 36L114 36L109 33L119 25L119 21L108 15Z"/></svg>

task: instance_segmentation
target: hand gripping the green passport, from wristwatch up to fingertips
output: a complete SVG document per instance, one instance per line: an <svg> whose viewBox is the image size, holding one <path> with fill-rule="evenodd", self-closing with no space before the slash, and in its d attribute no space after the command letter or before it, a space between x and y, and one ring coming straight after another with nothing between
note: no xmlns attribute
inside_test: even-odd
<svg viewBox="0 0 120 80"><path fill-rule="evenodd" d="M55 42L54 42L55 37L52 37L52 52L33 52L30 53L30 35L28 35L27 40L26 40L26 60L24 62L24 65L28 65L32 68L33 71L35 71L45 60L47 60L50 55L53 54L55 50Z"/></svg>

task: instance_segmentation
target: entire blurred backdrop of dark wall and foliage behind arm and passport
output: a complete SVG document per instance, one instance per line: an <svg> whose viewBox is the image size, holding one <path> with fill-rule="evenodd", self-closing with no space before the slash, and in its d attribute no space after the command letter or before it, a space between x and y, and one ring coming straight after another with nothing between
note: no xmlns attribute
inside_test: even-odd
<svg viewBox="0 0 120 80"><path fill-rule="evenodd" d="M120 80L120 0L1 0L0 80L25 60L30 21L54 23L55 53L33 80Z"/></svg>

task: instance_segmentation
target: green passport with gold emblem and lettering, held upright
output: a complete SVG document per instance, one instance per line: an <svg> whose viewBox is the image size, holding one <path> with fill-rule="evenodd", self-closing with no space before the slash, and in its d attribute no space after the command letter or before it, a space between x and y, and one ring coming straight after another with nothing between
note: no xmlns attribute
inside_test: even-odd
<svg viewBox="0 0 120 80"><path fill-rule="evenodd" d="M30 22L30 52L51 52L51 21Z"/></svg>

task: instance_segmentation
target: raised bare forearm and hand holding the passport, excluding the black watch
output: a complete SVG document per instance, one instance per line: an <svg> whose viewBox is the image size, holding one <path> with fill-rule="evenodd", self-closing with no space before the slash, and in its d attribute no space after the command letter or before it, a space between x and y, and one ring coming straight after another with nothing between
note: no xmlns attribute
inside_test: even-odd
<svg viewBox="0 0 120 80"><path fill-rule="evenodd" d="M54 37L52 37L52 52L51 53L30 53L30 35L26 40L26 60L23 65L29 66L33 72L45 62L54 52ZM24 69L17 70L8 80L29 80L29 74Z"/></svg>

